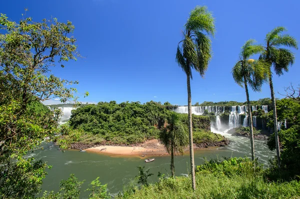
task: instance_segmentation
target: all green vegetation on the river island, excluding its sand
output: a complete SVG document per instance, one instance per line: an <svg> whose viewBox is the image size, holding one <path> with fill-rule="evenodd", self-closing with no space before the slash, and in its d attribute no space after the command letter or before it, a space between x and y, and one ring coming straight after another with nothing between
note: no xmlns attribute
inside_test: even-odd
<svg viewBox="0 0 300 199"><path fill-rule="evenodd" d="M157 102L99 102L98 104L81 105L72 110L69 125L60 127L63 136L57 139L62 148L71 143L131 145L146 140L157 139L170 120L172 106ZM180 114L180 121L186 131L188 119ZM215 134L210 133L210 120L207 116L194 116L193 128L197 131L197 143L214 142ZM211 134L211 136L209 136ZM199 136L210 138L200 140Z"/></svg>

